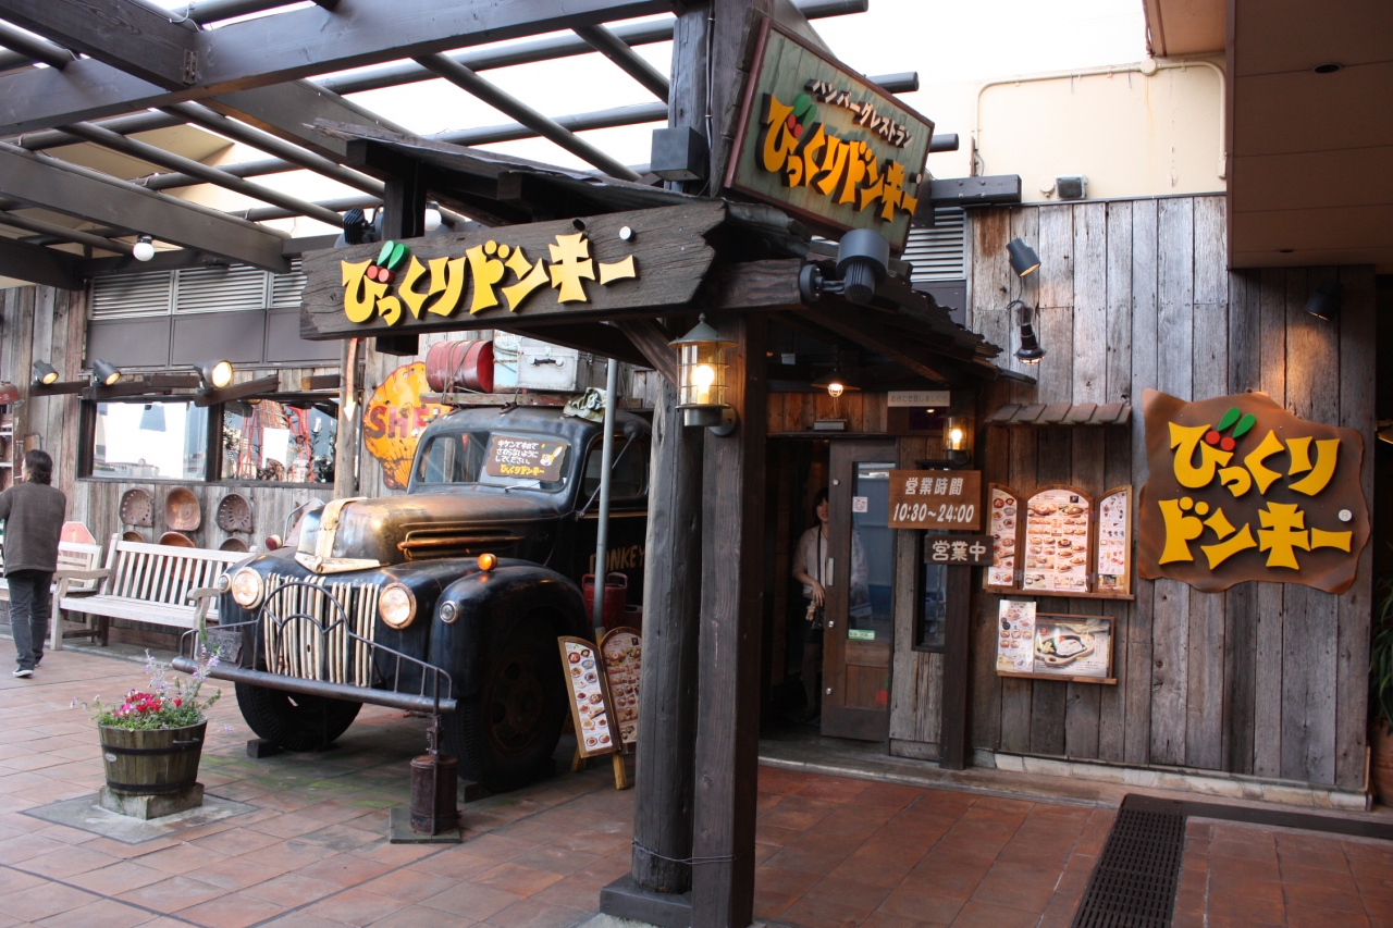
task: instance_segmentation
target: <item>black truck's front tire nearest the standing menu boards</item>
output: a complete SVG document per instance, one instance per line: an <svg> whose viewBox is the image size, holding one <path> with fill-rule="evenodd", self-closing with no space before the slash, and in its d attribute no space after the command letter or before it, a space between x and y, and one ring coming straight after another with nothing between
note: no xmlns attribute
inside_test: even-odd
<svg viewBox="0 0 1393 928"><path fill-rule="evenodd" d="M550 776L567 713L556 633L540 616L520 623L489 662L483 686L443 719L460 775L504 793Z"/></svg>

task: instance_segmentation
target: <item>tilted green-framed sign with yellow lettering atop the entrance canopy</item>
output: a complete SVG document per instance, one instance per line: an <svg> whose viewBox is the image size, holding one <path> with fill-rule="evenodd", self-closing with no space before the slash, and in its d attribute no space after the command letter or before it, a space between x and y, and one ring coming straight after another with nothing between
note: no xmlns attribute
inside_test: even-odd
<svg viewBox="0 0 1393 928"><path fill-rule="evenodd" d="M724 184L904 248L933 123L765 20Z"/></svg>

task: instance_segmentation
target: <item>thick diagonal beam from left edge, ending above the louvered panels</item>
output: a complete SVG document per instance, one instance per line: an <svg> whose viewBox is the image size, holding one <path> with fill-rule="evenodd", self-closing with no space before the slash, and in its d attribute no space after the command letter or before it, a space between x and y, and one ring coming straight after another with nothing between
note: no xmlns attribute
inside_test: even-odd
<svg viewBox="0 0 1393 928"><path fill-rule="evenodd" d="M40 157L0 142L0 192L106 226L142 231L176 245L286 273L281 240L272 231L99 171Z"/></svg>

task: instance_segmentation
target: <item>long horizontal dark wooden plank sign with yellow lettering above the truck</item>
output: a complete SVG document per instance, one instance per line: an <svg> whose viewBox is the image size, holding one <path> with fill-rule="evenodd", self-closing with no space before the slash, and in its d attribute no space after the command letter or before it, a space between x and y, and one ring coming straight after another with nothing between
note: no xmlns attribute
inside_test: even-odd
<svg viewBox="0 0 1393 928"><path fill-rule="evenodd" d="M305 255L304 339L490 329L688 302L726 208L696 202Z"/></svg>

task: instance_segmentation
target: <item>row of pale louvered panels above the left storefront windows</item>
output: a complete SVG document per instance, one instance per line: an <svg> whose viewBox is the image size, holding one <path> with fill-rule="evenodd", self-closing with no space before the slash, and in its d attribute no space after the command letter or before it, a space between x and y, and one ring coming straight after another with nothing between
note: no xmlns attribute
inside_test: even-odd
<svg viewBox="0 0 1393 928"><path fill-rule="evenodd" d="M290 308L299 305L305 274L299 262L287 274L247 265L182 268L92 280L93 319L132 319L194 312Z"/></svg>

